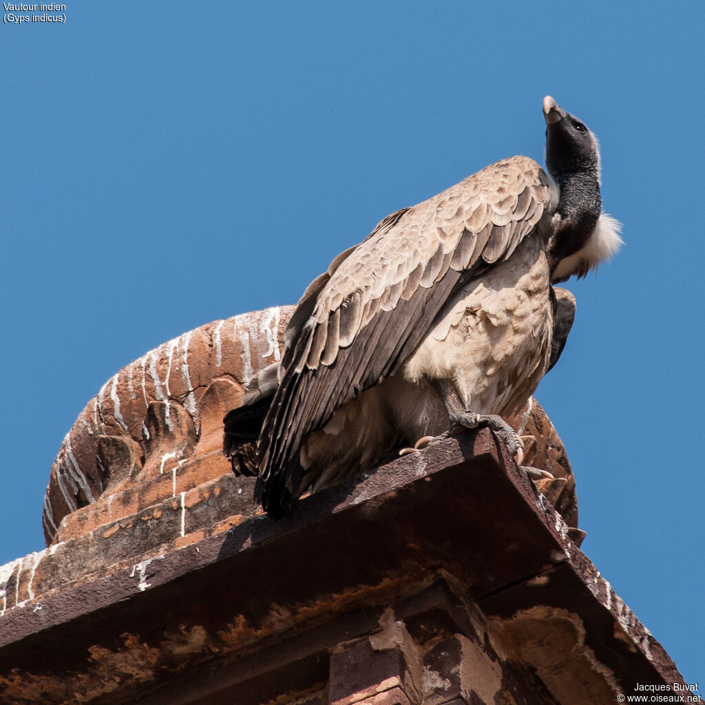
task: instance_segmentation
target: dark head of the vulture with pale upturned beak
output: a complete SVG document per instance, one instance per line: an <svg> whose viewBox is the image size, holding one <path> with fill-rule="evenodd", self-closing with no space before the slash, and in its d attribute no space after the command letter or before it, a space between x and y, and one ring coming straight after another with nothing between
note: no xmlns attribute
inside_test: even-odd
<svg viewBox="0 0 705 705"><path fill-rule="evenodd" d="M587 125L566 113L550 95L544 98L546 119L546 168L558 183L581 172L599 183L600 149Z"/></svg>

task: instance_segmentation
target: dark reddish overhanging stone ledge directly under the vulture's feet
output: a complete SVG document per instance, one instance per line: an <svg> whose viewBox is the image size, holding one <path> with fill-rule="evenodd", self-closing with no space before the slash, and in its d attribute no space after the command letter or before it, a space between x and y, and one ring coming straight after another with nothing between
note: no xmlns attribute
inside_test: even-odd
<svg viewBox="0 0 705 705"><path fill-rule="evenodd" d="M255 672L243 664L305 634L327 644L306 657L309 686L320 687L327 649L369 630L360 615L379 619L386 605L439 580L479 606L511 661L545 672L556 701L570 701L561 688L578 666L596 679L597 699L585 702L636 682L682 682L560 515L482 429L309 496L281 521L253 517L27 599L0 618L0 695L108 703L140 692L144 702L205 702L224 687L215 668L227 664L228 687L249 682ZM568 635L571 658L526 638L537 619ZM287 653L295 651L281 654L282 673ZM176 699L182 672L198 698ZM262 673L266 681L274 671Z"/></svg>

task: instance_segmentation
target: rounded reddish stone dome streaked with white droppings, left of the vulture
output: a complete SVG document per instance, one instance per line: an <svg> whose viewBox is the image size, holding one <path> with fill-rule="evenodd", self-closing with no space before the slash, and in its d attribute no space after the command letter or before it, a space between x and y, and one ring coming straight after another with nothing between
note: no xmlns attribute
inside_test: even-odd
<svg viewBox="0 0 705 705"><path fill-rule="evenodd" d="M279 359L293 308L214 321L111 377L66 434L51 469L47 543L75 535L77 510L119 505L118 494L133 483L219 448L223 415L240 403L242 385ZM212 468L209 479L229 472L224 461Z"/></svg>

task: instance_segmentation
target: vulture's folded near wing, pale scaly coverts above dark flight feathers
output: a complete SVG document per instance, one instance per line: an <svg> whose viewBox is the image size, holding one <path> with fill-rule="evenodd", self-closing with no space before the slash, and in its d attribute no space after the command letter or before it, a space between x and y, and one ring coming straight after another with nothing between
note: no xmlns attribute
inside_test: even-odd
<svg viewBox="0 0 705 705"><path fill-rule="evenodd" d="M550 200L539 165L512 157L387 216L333 260L287 331L281 385L259 441L265 487L272 474L292 472L307 434L403 364L457 286L510 257Z"/></svg>

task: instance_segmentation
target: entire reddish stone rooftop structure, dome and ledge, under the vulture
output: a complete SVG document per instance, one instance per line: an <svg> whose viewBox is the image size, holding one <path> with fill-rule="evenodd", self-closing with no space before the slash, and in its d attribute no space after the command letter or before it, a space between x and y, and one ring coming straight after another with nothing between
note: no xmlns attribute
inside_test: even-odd
<svg viewBox="0 0 705 705"><path fill-rule="evenodd" d="M481 429L262 515L221 419L291 311L186 333L87 405L49 547L0 568L0 702L613 704L682 682L577 548L534 400L513 424L543 494Z"/></svg>

